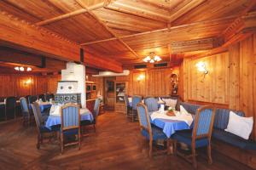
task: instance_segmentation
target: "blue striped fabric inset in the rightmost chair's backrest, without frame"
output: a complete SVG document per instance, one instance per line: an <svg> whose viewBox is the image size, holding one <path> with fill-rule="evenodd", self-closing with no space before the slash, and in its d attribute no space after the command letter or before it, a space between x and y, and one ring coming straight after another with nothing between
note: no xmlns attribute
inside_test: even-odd
<svg viewBox="0 0 256 170"><path fill-rule="evenodd" d="M209 133L212 121L212 110L207 109L201 111L199 115L198 124L196 127L196 135L203 135Z"/></svg>

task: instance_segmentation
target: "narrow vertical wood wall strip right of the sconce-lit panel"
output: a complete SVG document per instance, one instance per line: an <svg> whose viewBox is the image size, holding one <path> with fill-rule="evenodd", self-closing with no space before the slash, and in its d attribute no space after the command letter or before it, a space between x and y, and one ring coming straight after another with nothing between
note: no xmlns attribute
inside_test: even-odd
<svg viewBox="0 0 256 170"><path fill-rule="evenodd" d="M230 51L230 63L229 63L229 104L230 109L236 111L240 110L240 44L236 43L229 48Z"/></svg>

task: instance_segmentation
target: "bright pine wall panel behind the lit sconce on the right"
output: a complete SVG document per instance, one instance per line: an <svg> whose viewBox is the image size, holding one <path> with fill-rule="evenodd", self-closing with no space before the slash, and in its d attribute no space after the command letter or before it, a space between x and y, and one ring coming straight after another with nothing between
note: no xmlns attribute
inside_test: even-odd
<svg viewBox="0 0 256 170"><path fill-rule="evenodd" d="M189 99L212 103L228 103L227 77L229 54L217 54L203 59L194 59L189 62ZM209 73L197 71L196 64L204 62ZM220 94L220 95L219 95Z"/></svg>

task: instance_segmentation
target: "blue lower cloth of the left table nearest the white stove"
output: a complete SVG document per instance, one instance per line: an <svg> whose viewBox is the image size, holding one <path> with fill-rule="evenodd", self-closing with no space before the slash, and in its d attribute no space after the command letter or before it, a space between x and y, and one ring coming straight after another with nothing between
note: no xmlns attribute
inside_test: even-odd
<svg viewBox="0 0 256 170"><path fill-rule="evenodd" d="M92 122L93 121L93 115L91 114L91 112L89 110L87 110L87 112L81 113L81 121L87 120ZM61 116L58 115L49 115L48 119L45 123L45 127L51 127L54 125L59 125L61 124Z"/></svg>

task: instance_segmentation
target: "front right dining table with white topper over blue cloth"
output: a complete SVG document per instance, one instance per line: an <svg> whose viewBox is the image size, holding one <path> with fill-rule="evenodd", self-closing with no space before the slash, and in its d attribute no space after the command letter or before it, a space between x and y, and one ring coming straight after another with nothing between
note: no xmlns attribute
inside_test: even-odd
<svg viewBox="0 0 256 170"><path fill-rule="evenodd" d="M186 120L186 117L183 116L163 116L161 114L166 114L167 111L153 111L149 112L150 122L156 127L163 129L163 133L166 134L167 138L170 138L178 130L190 129L193 127L193 123ZM176 111L177 115L179 114ZM193 117L192 117L193 121Z"/></svg>

